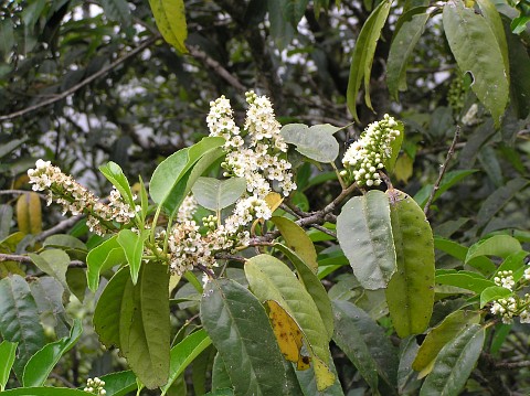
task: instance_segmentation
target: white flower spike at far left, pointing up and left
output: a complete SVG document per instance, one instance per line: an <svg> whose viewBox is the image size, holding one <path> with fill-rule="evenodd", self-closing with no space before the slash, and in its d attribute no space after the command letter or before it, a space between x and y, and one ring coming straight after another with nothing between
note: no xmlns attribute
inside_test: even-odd
<svg viewBox="0 0 530 396"><path fill-rule="evenodd" d="M105 235L110 222L129 223L130 218L135 217L135 211L139 210L138 206L132 210L125 203L117 190L110 192L108 205L100 202L96 195L71 175L64 174L60 168L53 167L50 161L38 160L35 169L30 169L28 175L34 191L47 190L47 205L55 201L63 206L63 214L86 214L86 225L98 235Z"/></svg>

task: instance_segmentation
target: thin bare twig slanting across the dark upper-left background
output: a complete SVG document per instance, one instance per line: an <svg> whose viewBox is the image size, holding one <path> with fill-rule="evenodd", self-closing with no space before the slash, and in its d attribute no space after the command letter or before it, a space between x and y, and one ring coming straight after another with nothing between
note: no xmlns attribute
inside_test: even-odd
<svg viewBox="0 0 530 396"><path fill-rule="evenodd" d="M134 49L131 52L129 52L128 54L117 58L116 61L114 61L113 63L110 63L107 67L104 67L102 68L100 71L94 73L93 75L91 75L89 77L83 79L81 83L74 85L72 88L68 88L66 89L65 92L47 99L47 100L44 100L44 101L41 101L41 103L38 103L36 105L33 105L33 106L30 106L30 107L26 107L22 110L19 110L19 111L14 111L14 113L11 113L11 114L8 114L8 115L4 115L4 116L0 116L0 121L6 121L6 120L10 120L10 119L13 119L13 118L18 118L18 117L21 117L21 116L24 116L26 115L28 113L31 113L31 111L34 111L34 110L38 110L42 107L45 107L45 106L49 106L49 105L53 105L54 103L56 101L60 101L66 97L68 97L70 95L74 94L75 92L80 90L81 88L83 88L85 85L88 85L91 84L93 81L99 78L100 76L107 74L108 72L110 72L113 68L115 68L116 66L120 65L121 63L124 63L125 61L127 61L128 58L135 56L136 54L138 54L139 52L144 51L145 49L147 49L149 45L151 45L152 43L155 43L157 40L159 39L159 36L153 36L153 38L150 38L150 39L147 39L145 42L142 42L140 45L138 45L136 49Z"/></svg>

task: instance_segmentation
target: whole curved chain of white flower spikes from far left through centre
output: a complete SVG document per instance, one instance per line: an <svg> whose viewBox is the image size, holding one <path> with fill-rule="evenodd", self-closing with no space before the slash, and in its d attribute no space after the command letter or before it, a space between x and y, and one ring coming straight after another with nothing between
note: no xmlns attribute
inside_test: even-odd
<svg viewBox="0 0 530 396"><path fill-rule="evenodd" d="M224 221L218 218L219 214L210 215L198 224L193 220L198 203L189 195L173 226L157 232L153 240L146 243L145 256L167 260L173 274L182 275L198 266L212 268L218 265L218 253L235 254L248 246L248 225L272 216L265 197L274 191L287 196L296 189L292 164L287 161L287 145L279 135L280 124L271 101L253 92L246 94L246 100L248 109L243 129L235 125L230 101L224 96L211 103L206 118L210 136L225 139L224 176L246 180L247 191L235 203L232 214ZM140 207L130 207L117 190L110 192L108 204L104 203L49 161L38 160L28 175L33 190L47 191L47 204L59 203L63 214L86 215L89 229L98 235L117 233L124 227L138 233L138 228L157 226L140 226L137 223Z"/></svg>

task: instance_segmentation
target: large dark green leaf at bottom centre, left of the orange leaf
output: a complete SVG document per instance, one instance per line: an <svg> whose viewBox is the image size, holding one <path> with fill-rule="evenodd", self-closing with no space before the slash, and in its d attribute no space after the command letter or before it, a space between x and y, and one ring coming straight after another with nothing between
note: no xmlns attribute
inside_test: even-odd
<svg viewBox="0 0 530 396"><path fill-rule="evenodd" d="M236 394L273 395L286 386L283 356L265 309L231 279L210 281L201 319L222 356Z"/></svg>

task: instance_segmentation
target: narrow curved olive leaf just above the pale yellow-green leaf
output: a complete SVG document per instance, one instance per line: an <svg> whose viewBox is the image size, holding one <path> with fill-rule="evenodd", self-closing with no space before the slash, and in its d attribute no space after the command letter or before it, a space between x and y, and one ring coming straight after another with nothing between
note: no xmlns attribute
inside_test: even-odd
<svg viewBox="0 0 530 396"><path fill-rule="evenodd" d="M328 340L331 340L331 336L333 335L333 311L331 309L331 301L329 300L326 288L299 254L293 251L287 246L282 244L275 244L274 247L283 251L295 266L298 274L298 279L304 283L307 292L315 301L318 312L320 313L320 318L328 330Z"/></svg>

